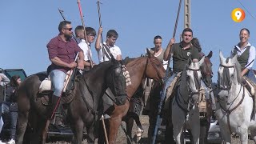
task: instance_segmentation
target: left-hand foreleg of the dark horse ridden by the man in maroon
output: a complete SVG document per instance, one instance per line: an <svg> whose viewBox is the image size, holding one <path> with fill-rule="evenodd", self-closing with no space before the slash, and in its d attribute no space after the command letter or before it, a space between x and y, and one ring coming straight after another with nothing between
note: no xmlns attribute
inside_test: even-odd
<svg viewBox="0 0 256 144"><path fill-rule="evenodd" d="M75 122L72 122L73 128L73 133L74 133L74 144L82 144L82 131L83 131L83 126L84 123L82 122L82 119L79 118L78 120L76 120Z"/></svg>

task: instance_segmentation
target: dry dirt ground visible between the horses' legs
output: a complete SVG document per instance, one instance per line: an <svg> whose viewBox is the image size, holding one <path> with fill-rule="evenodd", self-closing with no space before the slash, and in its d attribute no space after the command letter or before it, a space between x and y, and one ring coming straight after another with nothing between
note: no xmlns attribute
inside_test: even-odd
<svg viewBox="0 0 256 144"><path fill-rule="evenodd" d="M139 141L139 143L146 143L147 140L147 130L148 130L148 126L149 126L149 121L148 121L148 117L145 115L140 116L141 122L142 122L142 127L144 129L144 133L142 134L142 139ZM126 127L126 123L122 122L122 125L124 127ZM134 122L134 127L133 127L133 136L135 134L135 131L137 130L137 126ZM83 141L83 144L86 144L86 140ZM97 142L95 142L97 143ZM118 144L126 144L126 134L124 133L124 131L122 130L122 127L120 126L119 131L118 131L118 138L116 143ZM232 144L238 144L241 143L240 140L238 138L232 138ZM249 144L253 144L254 141L250 140ZM47 144L70 144L70 142L48 142Z"/></svg>

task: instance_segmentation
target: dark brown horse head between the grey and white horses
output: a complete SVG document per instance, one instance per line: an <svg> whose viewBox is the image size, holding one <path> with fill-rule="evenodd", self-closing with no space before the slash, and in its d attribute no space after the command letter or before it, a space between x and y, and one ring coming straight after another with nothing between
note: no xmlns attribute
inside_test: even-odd
<svg viewBox="0 0 256 144"><path fill-rule="evenodd" d="M210 51L210 53L205 57L205 61L202 63L202 66L200 67L201 73L202 73L202 79L206 83L207 87L210 87L212 84L212 77L213 77L213 70L212 66L213 64L210 62L210 58L212 57L213 52Z"/></svg>

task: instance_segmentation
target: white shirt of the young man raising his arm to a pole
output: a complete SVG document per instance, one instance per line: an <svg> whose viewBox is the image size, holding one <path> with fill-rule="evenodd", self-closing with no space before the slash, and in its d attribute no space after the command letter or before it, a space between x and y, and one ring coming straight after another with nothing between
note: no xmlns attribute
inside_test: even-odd
<svg viewBox="0 0 256 144"><path fill-rule="evenodd" d="M106 42L103 42L104 45L106 45ZM122 55L121 50L118 46L111 46L109 47L111 54L113 54L114 58L117 59L118 55ZM101 49L97 50L98 52L98 61L99 62L104 62L105 61L109 61L110 59L106 57L106 54L104 54L104 58L103 58L103 54L102 54L102 44L101 44ZM106 51L107 52L107 51ZM111 57L110 57L111 58Z"/></svg>

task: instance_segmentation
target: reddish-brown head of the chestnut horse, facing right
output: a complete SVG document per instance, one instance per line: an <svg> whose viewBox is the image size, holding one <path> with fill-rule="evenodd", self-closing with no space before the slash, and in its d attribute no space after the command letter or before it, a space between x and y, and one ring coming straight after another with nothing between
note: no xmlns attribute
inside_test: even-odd
<svg viewBox="0 0 256 144"><path fill-rule="evenodd" d="M154 57L154 54L150 53L150 50L146 49L146 53L146 77L152 78L157 82L162 82L162 79L166 75L166 70L163 68L162 62Z"/></svg>

